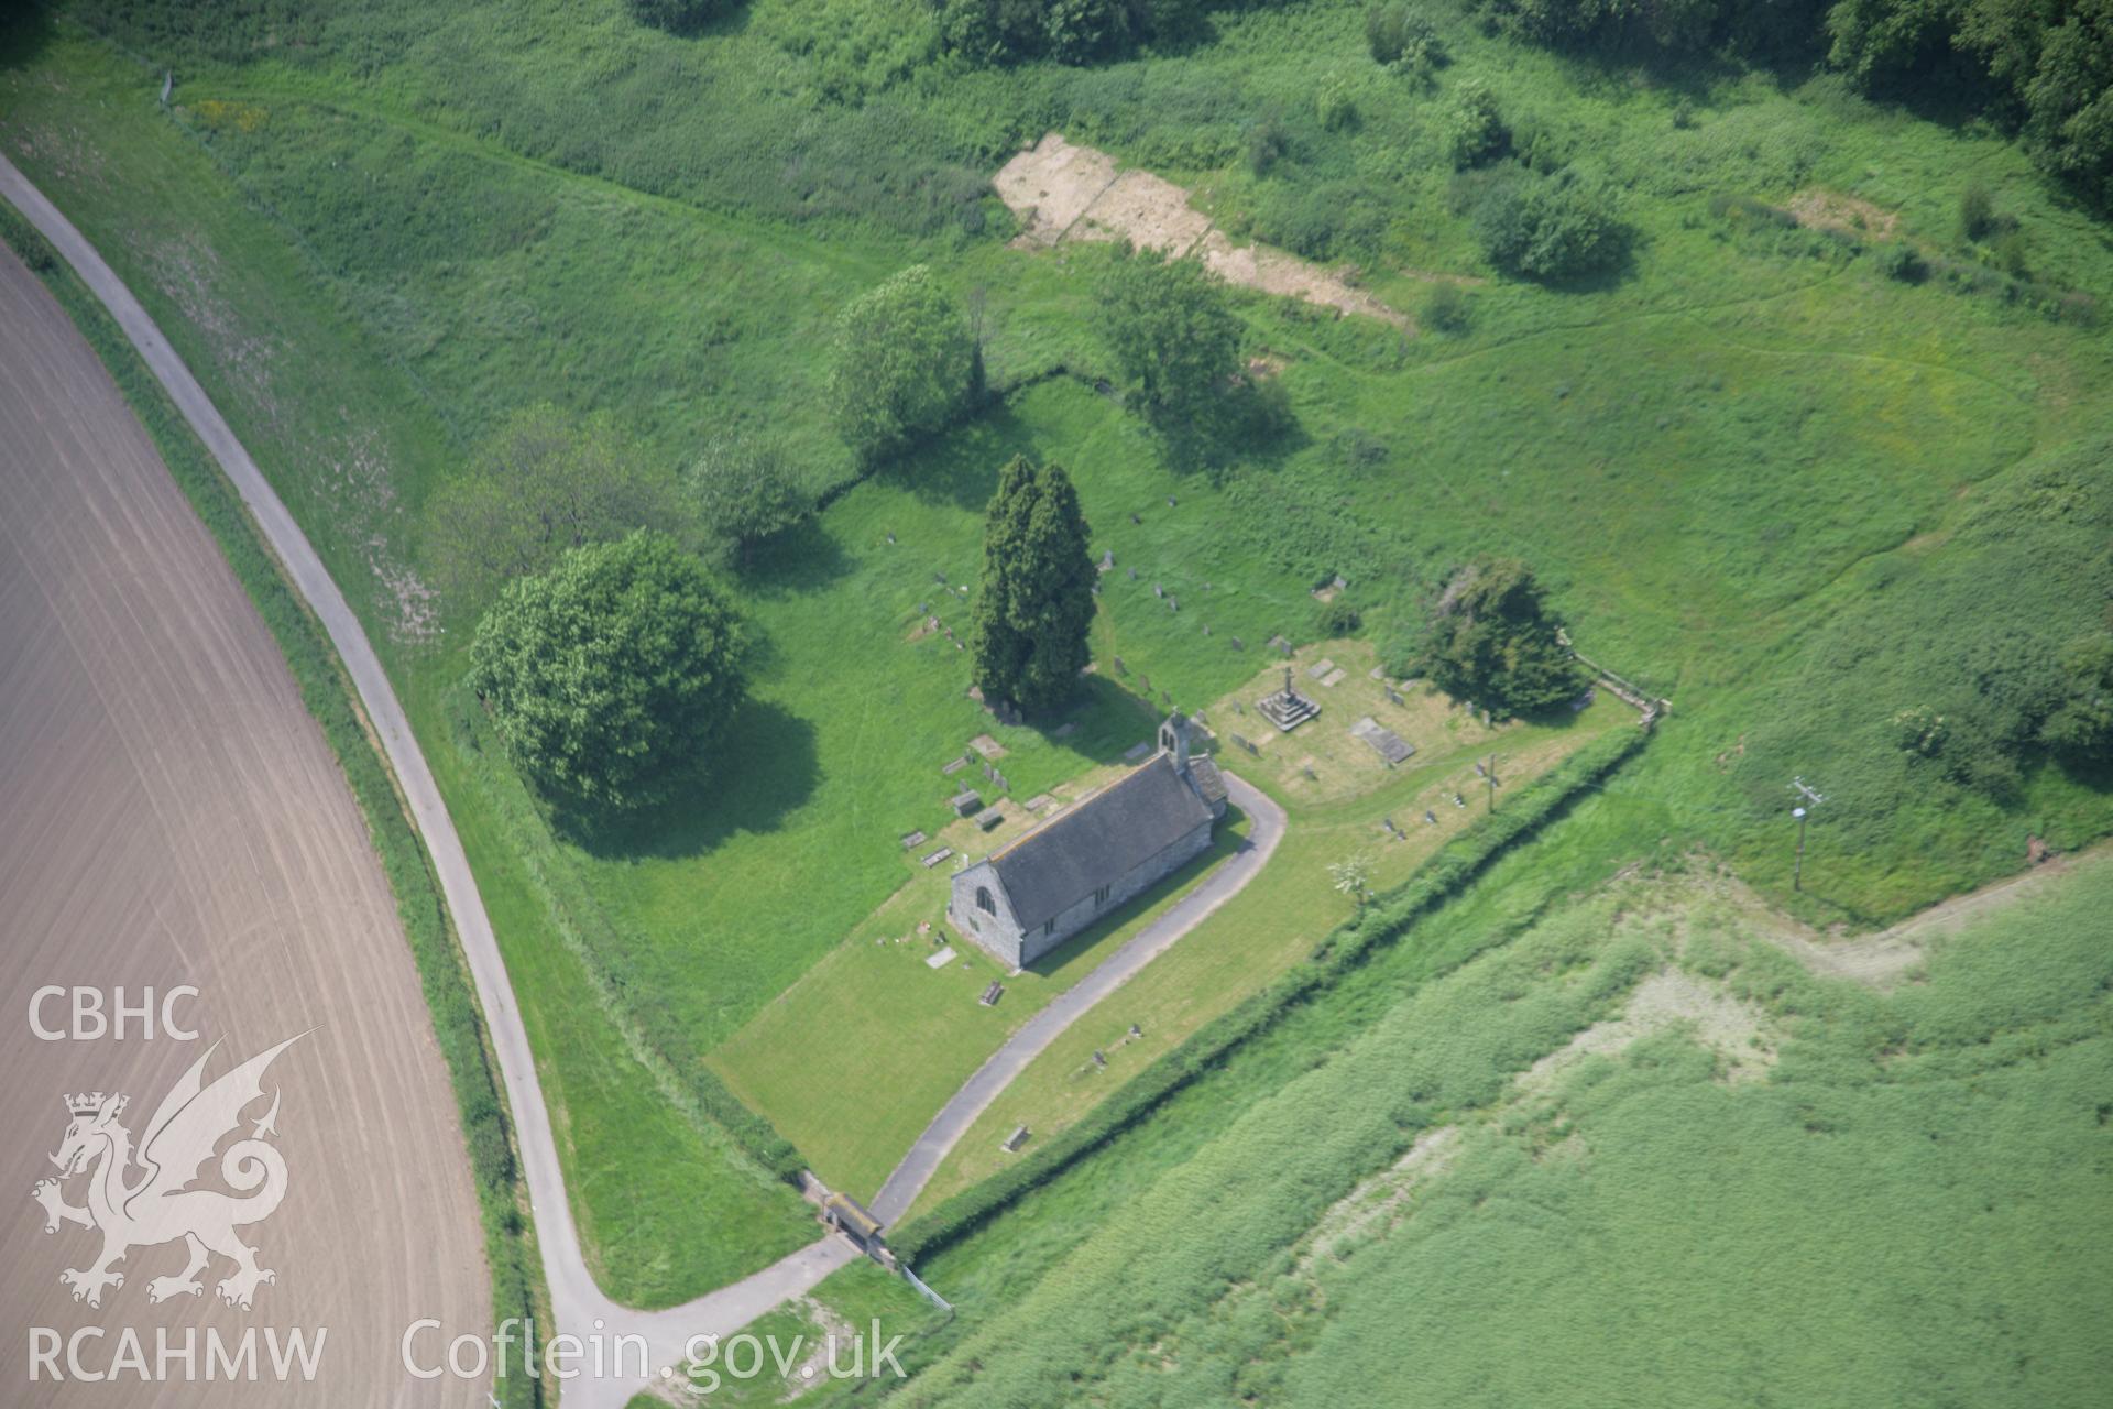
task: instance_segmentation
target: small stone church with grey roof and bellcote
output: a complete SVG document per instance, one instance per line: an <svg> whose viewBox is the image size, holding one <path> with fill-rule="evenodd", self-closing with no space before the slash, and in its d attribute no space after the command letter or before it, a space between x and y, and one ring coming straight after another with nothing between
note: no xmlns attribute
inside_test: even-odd
<svg viewBox="0 0 2113 1409"><path fill-rule="evenodd" d="M1209 847L1221 815L1226 779L1175 714L1152 758L955 872L947 921L1023 970Z"/></svg>

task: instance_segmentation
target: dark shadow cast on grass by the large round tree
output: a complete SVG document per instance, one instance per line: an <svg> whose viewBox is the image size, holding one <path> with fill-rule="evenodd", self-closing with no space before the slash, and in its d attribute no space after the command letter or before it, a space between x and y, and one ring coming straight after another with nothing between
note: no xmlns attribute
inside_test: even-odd
<svg viewBox="0 0 2113 1409"><path fill-rule="evenodd" d="M682 784L659 807L609 815L558 809L558 834L600 860L680 860L704 856L735 832L778 830L822 782L814 725L765 699L750 699L727 722L714 752L718 767Z"/></svg>

